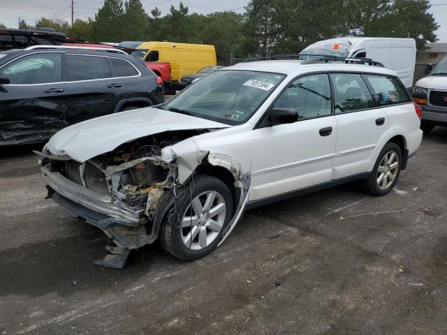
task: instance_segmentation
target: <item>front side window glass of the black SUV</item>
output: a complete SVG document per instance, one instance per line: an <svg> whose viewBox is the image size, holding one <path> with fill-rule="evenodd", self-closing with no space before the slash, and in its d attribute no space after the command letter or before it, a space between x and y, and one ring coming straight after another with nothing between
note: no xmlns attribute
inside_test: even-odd
<svg viewBox="0 0 447 335"><path fill-rule="evenodd" d="M31 54L0 69L10 84L45 84L60 82L62 54L57 52Z"/></svg>

